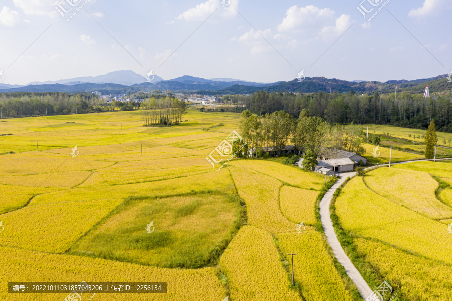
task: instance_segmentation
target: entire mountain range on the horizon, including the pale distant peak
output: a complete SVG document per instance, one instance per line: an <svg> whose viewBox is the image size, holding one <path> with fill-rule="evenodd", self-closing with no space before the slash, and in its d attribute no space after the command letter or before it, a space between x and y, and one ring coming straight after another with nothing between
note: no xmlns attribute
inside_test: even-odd
<svg viewBox="0 0 452 301"><path fill-rule="evenodd" d="M398 91L423 92L427 84L430 92L450 90L452 85L447 82L447 74L432 78L418 80L389 80L387 82L363 81L363 80L338 80L325 77L306 77L303 82L297 79L292 81L279 81L275 83L259 83L237 80L233 78L204 79L184 75L178 78L164 80L153 75L154 79L147 82L147 78L133 71L115 71L100 76L77 77L59 81L33 82L26 86L0 84L0 93L10 92L94 92L102 94L128 94L137 91L152 92L153 90L171 90L173 92L199 94L250 94L256 90L269 92L289 91L300 93L339 92L346 93L354 90L358 93L374 92L388 93ZM152 78L152 77L151 77Z"/></svg>

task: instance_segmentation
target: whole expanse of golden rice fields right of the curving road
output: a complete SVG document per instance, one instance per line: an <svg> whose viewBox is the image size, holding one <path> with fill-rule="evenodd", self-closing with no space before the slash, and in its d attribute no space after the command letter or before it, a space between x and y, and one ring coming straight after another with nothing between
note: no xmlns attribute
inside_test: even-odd
<svg viewBox="0 0 452 301"><path fill-rule="evenodd" d="M450 161L382 167L351 179L335 200L357 255L404 300L452 299L451 189L433 178L451 174Z"/></svg>

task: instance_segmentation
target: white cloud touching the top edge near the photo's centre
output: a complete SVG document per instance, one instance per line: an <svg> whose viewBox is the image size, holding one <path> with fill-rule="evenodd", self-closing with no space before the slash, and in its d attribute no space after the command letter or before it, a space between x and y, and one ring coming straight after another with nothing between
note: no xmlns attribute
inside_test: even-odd
<svg viewBox="0 0 452 301"><path fill-rule="evenodd" d="M237 14L235 9L238 5L239 0L230 0L230 4L227 7L222 7L219 0L208 0L207 2L198 4L194 8L183 12L177 17L177 19L183 19L186 21L204 21L216 10L218 10L219 12L217 13L221 14L223 17L231 17Z"/></svg>

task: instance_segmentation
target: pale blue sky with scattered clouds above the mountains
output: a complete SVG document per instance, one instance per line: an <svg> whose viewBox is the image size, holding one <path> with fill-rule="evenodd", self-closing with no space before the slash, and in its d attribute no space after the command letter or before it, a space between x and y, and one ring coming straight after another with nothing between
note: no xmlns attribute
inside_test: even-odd
<svg viewBox="0 0 452 301"><path fill-rule="evenodd" d="M117 70L259 82L292 80L302 70L378 81L451 72L450 0L361 1L4 0L2 83ZM64 18L59 3L73 8ZM373 8L366 18L360 3Z"/></svg>

